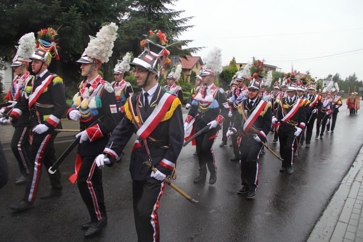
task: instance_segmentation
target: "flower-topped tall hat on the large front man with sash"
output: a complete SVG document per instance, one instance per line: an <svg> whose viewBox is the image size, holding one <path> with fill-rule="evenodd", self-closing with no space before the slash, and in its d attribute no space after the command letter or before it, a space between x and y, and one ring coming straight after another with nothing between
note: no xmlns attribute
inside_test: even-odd
<svg viewBox="0 0 363 242"><path fill-rule="evenodd" d="M164 65L170 65L168 58L170 51L166 49L168 40L166 34L160 30L150 31L149 35L144 34L145 39L140 42L144 51L136 57L131 66L142 66L159 76L164 71Z"/></svg>

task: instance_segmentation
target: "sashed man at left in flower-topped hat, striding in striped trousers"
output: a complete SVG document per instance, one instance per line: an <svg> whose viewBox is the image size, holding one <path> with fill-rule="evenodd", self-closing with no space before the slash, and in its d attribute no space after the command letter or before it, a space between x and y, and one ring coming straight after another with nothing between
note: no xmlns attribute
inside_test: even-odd
<svg viewBox="0 0 363 242"><path fill-rule="evenodd" d="M30 109L30 124L33 140L30 146L29 175L25 196L19 203L11 206L12 210L28 210L34 206L37 194L42 162L49 169L55 162L54 139L61 129L61 117L66 109L63 80L48 71L52 57L59 59L54 37L57 32L52 28L38 32L38 47L32 54L31 69L35 76L26 80L24 95L9 115L9 120L16 123L23 113ZM50 38L49 38L50 37ZM40 198L46 199L62 194L61 173L59 169L48 173L52 188Z"/></svg>

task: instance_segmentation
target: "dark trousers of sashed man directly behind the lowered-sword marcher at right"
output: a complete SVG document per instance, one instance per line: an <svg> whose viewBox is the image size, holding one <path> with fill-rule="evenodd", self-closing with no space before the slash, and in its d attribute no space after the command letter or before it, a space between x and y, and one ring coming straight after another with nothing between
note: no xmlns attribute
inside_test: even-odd
<svg viewBox="0 0 363 242"><path fill-rule="evenodd" d="M291 167L294 164L294 143L295 143L295 131L294 129L282 130L279 129L279 141L280 141L280 156L282 161L282 167Z"/></svg>

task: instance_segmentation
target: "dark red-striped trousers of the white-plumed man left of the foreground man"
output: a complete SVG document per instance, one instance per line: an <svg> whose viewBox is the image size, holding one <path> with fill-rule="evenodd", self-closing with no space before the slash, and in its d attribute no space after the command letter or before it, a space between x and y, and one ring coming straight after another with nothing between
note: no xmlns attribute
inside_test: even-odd
<svg viewBox="0 0 363 242"><path fill-rule="evenodd" d="M94 162L95 156L81 157L82 164L77 177L79 193L86 204L92 222L106 216L102 171Z"/></svg>

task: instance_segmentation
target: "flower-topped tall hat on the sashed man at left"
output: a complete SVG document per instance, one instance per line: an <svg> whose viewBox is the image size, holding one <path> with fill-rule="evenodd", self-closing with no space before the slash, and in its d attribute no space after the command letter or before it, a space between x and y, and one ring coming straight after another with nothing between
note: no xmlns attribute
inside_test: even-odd
<svg viewBox="0 0 363 242"><path fill-rule="evenodd" d="M55 37L58 35L57 31L49 27L38 31L37 34L38 42L30 59L40 60L47 65L50 65L50 62L54 57L58 61L60 58L57 51L57 43L55 42Z"/></svg>

